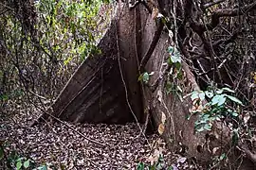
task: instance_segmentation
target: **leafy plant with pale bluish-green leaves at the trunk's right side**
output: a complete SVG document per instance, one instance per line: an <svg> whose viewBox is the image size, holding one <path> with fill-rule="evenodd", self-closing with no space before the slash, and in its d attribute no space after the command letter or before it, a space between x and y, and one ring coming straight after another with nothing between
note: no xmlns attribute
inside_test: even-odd
<svg viewBox="0 0 256 170"><path fill-rule="evenodd" d="M243 103L228 93L234 93L234 91L226 87L191 93L192 109L190 111L200 113L195 122L196 131L210 130L212 123L221 118L236 118L238 116L238 112L232 109L230 104L243 105ZM203 101L209 102L204 104Z"/></svg>

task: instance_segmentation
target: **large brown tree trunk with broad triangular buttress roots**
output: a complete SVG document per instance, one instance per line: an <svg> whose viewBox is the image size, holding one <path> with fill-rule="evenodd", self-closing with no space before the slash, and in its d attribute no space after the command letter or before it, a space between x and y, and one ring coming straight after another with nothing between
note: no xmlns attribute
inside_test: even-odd
<svg viewBox="0 0 256 170"><path fill-rule="evenodd" d="M170 2L159 2L159 11L170 15L166 13L171 10ZM155 126L164 129L160 132L171 149L186 152L199 161L210 161L212 149L222 147L223 142L207 147L208 136L214 131L195 133L197 116L191 116L189 97L180 98L166 90L172 76L166 64L170 57L167 48L173 41L144 6L129 10L119 4L117 15L98 45L101 54L82 63L53 104L52 115L71 122L123 124L135 120L144 123L150 114ZM186 56L187 49L180 48ZM199 91L189 66L183 63L182 68L183 80L177 82L182 95ZM144 71L154 72L147 85L137 80ZM222 133L222 129L214 129ZM229 139L224 143L229 144Z"/></svg>

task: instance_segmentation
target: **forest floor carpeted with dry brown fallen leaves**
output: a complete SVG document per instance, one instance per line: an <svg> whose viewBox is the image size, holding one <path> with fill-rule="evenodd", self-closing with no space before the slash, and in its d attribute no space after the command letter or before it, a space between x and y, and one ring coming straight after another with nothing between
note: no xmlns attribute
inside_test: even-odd
<svg viewBox="0 0 256 170"><path fill-rule="evenodd" d="M191 169L185 157L172 154L156 134L140 135L137 124L72 125L87 138L60 122L28 127L26 116L0 119L0 139L9 143L6 152L17 150L38 164L49 162L64 169L137 169L139 161L157 161L173 169ZM192 166L191 166L192 167ZM60 169L60 168L58 168Z"/></svg>

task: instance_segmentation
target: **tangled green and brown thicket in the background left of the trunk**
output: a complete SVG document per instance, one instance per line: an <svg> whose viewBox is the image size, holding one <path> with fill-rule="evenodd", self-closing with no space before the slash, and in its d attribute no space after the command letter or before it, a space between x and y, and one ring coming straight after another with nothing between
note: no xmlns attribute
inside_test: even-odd
<svg viewBox="0 0 256 170"><path fill-rule="evenodd" d="M101 0L20 2L3 1L8 10L0 18L0 107L9 100L27 105L28 91L56 96L82 60L100 53Z"/></svg>

